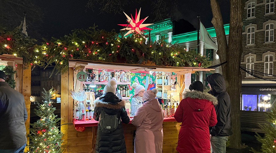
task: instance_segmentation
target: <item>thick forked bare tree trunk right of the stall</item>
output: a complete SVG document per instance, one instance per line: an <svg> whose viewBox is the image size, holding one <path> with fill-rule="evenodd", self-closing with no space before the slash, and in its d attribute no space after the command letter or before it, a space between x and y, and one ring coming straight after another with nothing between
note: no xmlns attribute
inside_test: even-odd
<svg viewBox="0 0 276 153"><path fill-rule="evenodd" d="M222 16L217 0L210 0L213 13L212 24L216 30L220 62L227 61L222 66L226 81L226 90L231 100L231 121L233 134L230 136L230 147L241 147L240 135L240 93L241 73L240 61L242 47L242 0L230 0L230 32L227 45Z"/></svg>

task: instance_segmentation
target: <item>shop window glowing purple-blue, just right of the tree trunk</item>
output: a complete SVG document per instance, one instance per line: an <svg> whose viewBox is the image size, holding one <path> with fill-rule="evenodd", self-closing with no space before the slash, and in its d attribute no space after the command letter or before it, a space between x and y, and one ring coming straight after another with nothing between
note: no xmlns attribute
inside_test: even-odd
<svg viewBox="0 0 276 153"><path fill-rule="evenodd" d="M257 111L257 95L242 95L242 110Z"/></svg>

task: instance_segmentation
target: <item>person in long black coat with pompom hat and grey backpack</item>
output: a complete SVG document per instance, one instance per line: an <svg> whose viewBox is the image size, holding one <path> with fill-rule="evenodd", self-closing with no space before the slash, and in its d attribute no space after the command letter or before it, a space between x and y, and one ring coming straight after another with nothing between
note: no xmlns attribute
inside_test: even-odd
<svg viewBox="0 0 276 153"><path fill-rule="evenodd" d="M96 121L101 120L101 112L108 115L117 115L118 126L113 132L104 133L101 125L98 124L96 153L126 153L125 136L122 122L128 124L130 119L125 110L125 100L119 99L116 95L116 81L110 80L104 88L104 94L99 100L94 100L94 115ZM103 110L103 111L102 111ZM122 122L121 122L122 121Z"/></svg>

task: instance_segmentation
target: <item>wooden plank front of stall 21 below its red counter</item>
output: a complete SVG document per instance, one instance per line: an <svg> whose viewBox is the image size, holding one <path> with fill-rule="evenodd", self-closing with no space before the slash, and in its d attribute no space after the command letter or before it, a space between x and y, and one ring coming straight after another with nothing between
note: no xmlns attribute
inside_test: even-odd
<svg viewBox="0 0 276 153"><path fill-rule="evenodd" d="M181 123L177 122L163 122L163 153L177 153L175 149L180 125ZM94 128L97 129L97 127ZM123 128L127 153L133 153L133 130L136 130L136 127L132 124L127 124L123 125ZM86 127L85 131L78 132L73 125L68 125L68 153L94 153L95 151L92 149L92 147L94 148L94 144L92 145L92 130L92 127ZM96 139L96 131L94 139Z"/></svg>

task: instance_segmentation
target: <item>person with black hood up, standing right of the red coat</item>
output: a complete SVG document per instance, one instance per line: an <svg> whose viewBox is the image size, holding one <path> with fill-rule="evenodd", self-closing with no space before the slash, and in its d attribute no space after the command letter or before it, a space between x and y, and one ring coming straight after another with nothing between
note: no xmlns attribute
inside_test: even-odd
<svg viewBox="0 0 276 153"><path fill-rule="evenodd" d="M209 93L217 97L218 100L218 105L215 106L217 125L210 128L211 152L225 153L226 141L232 134L230 97L226 92L225 81L221 74L211 74L205 81L209 83L208 86L211 90Z"/></svg>

